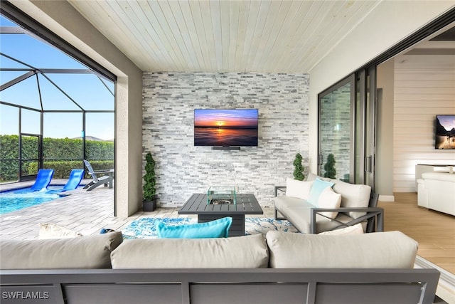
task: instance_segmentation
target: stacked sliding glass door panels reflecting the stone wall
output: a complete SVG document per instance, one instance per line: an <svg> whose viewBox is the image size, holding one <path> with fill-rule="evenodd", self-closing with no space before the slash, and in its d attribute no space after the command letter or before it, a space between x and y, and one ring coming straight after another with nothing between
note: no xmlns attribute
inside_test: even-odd
<svg viewBox="0 0 455 304"><path fill-rule="evenodd" d="M318 174L375 184L375 66L319 94Z"/></svg>

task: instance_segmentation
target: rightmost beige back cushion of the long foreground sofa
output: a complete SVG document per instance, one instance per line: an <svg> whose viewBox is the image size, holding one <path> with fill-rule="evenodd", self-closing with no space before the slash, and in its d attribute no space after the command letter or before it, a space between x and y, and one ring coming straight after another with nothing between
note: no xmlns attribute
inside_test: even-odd
<svg viewBox="0 0 455 304"><path fill-rule="evenodd" d="M418 243L400 231L327 236L269 231L272 268L413 268Z"/></svg>

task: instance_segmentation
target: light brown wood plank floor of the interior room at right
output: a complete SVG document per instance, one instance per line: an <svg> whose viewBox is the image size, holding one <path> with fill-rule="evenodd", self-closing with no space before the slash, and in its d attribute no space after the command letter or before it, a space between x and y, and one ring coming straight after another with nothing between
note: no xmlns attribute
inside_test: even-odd
<svg viewBox="0 0 455 304"><path fill-rule="evenodd" d="M419 242L419 256L455 273L455 216L417 206L417 193L394 195L395 202L379 202L385 231L402 231Z"/></svg>

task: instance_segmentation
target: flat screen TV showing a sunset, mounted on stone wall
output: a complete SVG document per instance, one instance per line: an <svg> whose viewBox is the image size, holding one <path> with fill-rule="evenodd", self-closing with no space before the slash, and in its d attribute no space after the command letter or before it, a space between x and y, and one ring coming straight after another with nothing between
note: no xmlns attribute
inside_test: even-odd
<svg viewBox="0 0 455 304"><path fill-rule="evenodd" d="M257 146L257 109L194 110L194 145Z"/></svg>

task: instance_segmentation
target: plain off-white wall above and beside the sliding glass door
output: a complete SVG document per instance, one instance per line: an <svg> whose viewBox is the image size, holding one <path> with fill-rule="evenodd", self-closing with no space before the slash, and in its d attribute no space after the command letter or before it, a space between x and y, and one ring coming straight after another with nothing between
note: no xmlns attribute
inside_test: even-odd
<svg viewBox="0 0 455 304"><path fill-rule="evenodd" d="M310 72L311 130L317 130L317 95L414 31L454 7L453 1L382 1ZM384 123L384 122L379 122ZM310 168L317 170L317 132L310 132ZM392 168L389 168L392 170Z"/></svg>

